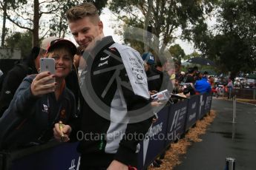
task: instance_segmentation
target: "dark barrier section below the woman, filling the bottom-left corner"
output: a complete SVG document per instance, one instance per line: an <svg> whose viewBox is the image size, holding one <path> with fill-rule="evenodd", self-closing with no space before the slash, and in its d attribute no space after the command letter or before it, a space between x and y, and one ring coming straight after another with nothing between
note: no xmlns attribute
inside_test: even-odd
<svg viewBox="0 0 256 170"><path fill-rule="evenodd" d="M70 169L79 167L78 143L59 143L50 141L45 145L31 146L15 152L0 152L2 170L45 170Z"/></svg>

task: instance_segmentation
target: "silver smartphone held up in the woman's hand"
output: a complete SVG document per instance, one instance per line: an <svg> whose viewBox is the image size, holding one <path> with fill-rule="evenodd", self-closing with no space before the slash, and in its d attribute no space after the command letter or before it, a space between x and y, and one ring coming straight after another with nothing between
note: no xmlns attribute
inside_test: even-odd
<svg viewBox="0 0 256 170"><path fill-rule="evenodd" d="M50 72L55 74L55 61L53 58L40 58L40 72ZM47 84L54 83L55 80L48 81Z"/></svg>

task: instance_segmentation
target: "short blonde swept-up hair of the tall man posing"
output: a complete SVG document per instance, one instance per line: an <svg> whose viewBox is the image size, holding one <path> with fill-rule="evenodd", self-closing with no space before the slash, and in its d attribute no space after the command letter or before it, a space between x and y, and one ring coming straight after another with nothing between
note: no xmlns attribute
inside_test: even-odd
<svg viewBox="0 0 256 170"><path fill-rule="evenodd" d="M76 7L71 7L67 11L66 16L69 22L77 21L85 17L92 18L91 21L94 21L95 23L100 21L97 8L90 2L85 2L77 5Z"/></svg>

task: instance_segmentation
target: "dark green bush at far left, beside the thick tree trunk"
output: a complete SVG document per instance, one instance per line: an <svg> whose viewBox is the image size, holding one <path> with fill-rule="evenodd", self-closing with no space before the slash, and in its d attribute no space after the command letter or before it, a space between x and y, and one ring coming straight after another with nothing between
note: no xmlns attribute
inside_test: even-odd
<svg viewBox="0 0 256 170"><path fill-rule="evenodd" d="M6 38L6 47L22 51L22 58L27 57L31 50L32 34L30 32L14 33Z"/></svg>

